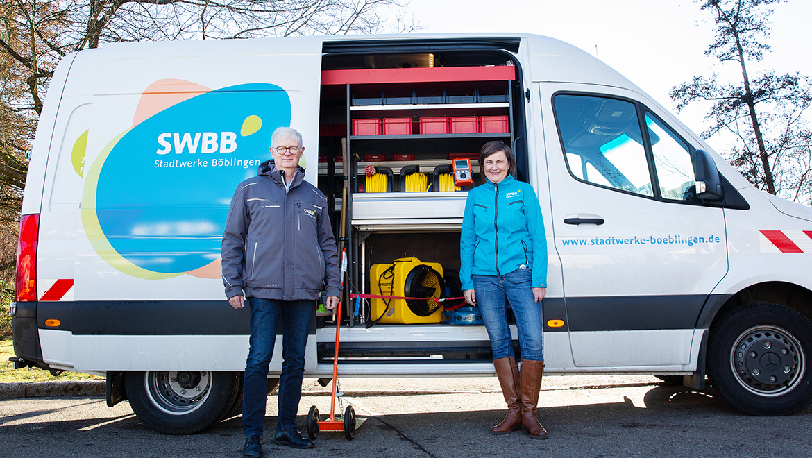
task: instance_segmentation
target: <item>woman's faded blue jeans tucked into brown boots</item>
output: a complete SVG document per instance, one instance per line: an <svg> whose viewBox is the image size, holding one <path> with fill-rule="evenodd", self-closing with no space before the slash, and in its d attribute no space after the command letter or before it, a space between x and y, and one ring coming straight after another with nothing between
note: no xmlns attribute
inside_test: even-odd
<svg viewBox="0 0 812 458"><path fill-rule="evenodd" d="M507 300L516 316L521 359L544 361L544 317L541 303L533 298L532 284L533 274L529 269L516 269L499 276L473 275L473 290L477 293L477 305L495 360L515 356L508 327Z"/></svg>

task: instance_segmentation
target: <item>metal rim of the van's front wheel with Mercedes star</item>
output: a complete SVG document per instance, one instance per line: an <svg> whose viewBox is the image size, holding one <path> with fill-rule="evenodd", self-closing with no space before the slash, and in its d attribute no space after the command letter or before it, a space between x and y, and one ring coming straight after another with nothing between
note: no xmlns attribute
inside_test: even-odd
<svg viewBox="0 0 812 458"><path fill-rule="evenodd" d="M786 395L801 382L806 356L794 335L778 326L753 326L730 352L736 382L763 397Z"/></svg>

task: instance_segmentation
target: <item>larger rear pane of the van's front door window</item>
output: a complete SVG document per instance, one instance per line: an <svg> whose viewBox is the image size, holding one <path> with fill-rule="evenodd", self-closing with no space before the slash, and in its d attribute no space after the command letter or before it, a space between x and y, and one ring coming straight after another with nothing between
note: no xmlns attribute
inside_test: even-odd
<svg viewBox="0 0 812 458"><path fill-rule="evenodd" d="M591 184L654 197L633 103L607 97L558 95L554 106L573 176Z"/></svg>

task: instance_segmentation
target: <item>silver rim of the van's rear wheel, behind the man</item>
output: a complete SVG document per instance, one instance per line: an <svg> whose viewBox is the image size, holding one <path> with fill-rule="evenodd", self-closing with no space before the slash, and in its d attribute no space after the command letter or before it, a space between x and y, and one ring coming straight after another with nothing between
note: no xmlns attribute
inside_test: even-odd
<svg viewBox="0 0 812 458"><path fill-rule="evenodd" d="M144 377L149 400L170 415L194 412L211 392L211 372L205 370L148 371Z"/></svg>

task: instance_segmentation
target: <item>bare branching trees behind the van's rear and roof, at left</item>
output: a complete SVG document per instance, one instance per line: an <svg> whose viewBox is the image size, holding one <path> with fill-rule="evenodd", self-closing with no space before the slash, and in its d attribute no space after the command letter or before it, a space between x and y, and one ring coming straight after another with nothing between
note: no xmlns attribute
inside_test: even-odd
<svg viewBox="0 0 812 458"><path fill-rule="evenodd" d="M383 32L387 11L400 8L395 16L400 19L406 4L401 0L2 0L0 282L13 276L9 267L14 266L28 154L45 92L65 55L118 41ZM395 32L410 32L419 24L412 16L398 22L397 28Z"/></svg>

